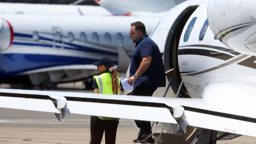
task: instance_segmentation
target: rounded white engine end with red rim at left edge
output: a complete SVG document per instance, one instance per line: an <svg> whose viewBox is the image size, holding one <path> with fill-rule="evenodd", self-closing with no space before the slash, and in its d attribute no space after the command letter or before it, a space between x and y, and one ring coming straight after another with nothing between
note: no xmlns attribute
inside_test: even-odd
<svg viewBox="0 0 256 144"><path fill-rule="evenodd" d="M9 48L13 38L14 32L11 23L4 18L0 18L0 52Z"/></svg>

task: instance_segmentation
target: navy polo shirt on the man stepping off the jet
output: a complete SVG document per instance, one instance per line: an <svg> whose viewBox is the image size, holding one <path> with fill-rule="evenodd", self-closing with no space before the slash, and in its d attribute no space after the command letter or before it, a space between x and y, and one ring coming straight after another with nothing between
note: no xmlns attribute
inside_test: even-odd
<svg viewBox="0 0 256 144"><path fill-rule="evenodd" d="M150 85L152 88L165 87L165 68L160 50L156 43L148 35L144 35L136 42L132 53L130 65L130 77L135 74L141 64L142 58L151 56L152 60L148 69L134 81L134 87L139 84Z"/></svg>

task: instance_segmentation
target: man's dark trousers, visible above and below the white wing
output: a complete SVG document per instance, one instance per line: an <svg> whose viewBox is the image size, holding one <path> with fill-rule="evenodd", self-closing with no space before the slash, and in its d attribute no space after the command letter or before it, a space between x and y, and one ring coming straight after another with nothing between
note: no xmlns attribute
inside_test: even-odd
<svg viewBox="0 0 256 144"><path fill-rule="evenodd" d="M151 88L150 85L147 84L140 84L134 87L134 90L132 91L131 95L133 96L152 96L154 91L157 88ZM134 120L137 127L139 127L141 130L141 133L148 133L151 132L151 124L149 121L143 121L143 120Z"/></svg>

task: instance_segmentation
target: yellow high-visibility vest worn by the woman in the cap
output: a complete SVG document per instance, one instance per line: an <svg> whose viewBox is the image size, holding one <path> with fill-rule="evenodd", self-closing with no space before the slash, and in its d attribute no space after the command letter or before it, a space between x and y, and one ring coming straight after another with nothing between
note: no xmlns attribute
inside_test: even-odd
<svg viewBox="0 0 256 144"><path fill-rule="evenodd" d="M112 91L112 81L111 81L111 73L105 72L98 76L93 76L93 79L96 80L98 85L99 94L113 94ZM120 78L118 78L118 84L120 85ZM118 94L120 90L118 88ZM109 117L102 117L98 116L101 120L119 120L119 118L109 118Z"/></svg>

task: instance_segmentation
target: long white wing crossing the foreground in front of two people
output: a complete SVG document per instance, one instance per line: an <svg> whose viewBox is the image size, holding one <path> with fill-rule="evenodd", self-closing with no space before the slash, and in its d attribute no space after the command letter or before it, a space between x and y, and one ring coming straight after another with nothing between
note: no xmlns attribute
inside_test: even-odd
<svg viewBox="0 0 256 144"><path fill-rule="evenodd" d="M0 107L62 114L63 119L65 113L108 116L179 124L184 131L186 126L193 126L256 137L256 116L251 113L253 109L248 111L217 98L161 98L0 89Z"/></svg>

